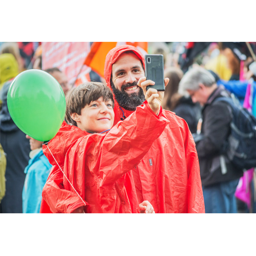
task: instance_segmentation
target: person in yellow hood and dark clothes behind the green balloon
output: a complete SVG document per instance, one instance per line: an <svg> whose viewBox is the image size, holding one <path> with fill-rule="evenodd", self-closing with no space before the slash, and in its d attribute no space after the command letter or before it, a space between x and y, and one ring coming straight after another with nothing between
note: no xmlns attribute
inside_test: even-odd
<svg viewBox="0 0 256 256"><path fill-rule="evenodd" d="M0 143L6 153L6 195L0 213L22 213L22 189L29 162L30 146L26 134L12 120L7 105L7 93L19 73L18 63L11 53L0 55Z"/></svg>

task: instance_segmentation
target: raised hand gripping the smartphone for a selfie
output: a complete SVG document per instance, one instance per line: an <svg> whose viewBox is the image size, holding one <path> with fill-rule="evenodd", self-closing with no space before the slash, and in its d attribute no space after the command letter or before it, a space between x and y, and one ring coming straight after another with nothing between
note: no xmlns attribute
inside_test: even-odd
<svg viewBox="0 0 256 256"><path fill-rule="evenodd" d="M169 83L169 78L164 79L165 87ZM140 86L143 90L143 93L145 95L145 99L147 100L151 110L157 115L160 111L161 103L164 96L164 91L157 91L154 88L149 88L146 90L146 87L148 85L154 85L154 81L152 80L146 80L146 77L141 77L137 83L138 86Z"/></svg>

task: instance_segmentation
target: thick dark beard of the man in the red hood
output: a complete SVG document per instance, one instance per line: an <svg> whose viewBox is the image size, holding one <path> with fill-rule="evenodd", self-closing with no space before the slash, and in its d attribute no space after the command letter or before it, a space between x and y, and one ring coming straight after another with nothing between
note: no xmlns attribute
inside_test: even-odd
<svg viewBox="0 0 256 256"><path fill-rule="evenodd" d="M127 83L123 84L121 90L118 90L114 84L112 79L110 80L111 88L113 90L113 94L115 99L120 107L124 108L125 110L134 111L136 110L137 106L140 106L145 101L145 96L143 93L142 88L140 87L139 93L127 93L125 91L126 87L137 86L137 81L134 81L132 84Z"/></svg>

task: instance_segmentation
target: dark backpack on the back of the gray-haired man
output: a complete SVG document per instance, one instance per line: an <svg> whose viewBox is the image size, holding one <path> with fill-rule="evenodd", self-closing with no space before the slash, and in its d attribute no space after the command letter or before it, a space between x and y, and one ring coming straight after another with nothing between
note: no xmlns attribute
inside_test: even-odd
<svg viewBox="0 0 256 256"><path fill-rule="evenodd" d="M256 118L239 101L219 97L215 102L227 102L232 108L231 134L224 143L223 151L229 160L241 169L256 167Z"/></svg>

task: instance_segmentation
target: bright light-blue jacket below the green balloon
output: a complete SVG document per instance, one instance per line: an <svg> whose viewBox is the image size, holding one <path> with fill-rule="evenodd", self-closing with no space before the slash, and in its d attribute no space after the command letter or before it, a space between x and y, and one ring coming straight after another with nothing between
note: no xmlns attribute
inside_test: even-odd
<svg viewBox="0 0 256 256"><path fill-rule="evenodd" d="M25 183L22 192L23 213L39 213L42 199L42 190L48 178L52 165L40 150L35 157L29 160L26 166Z"/></svg>

